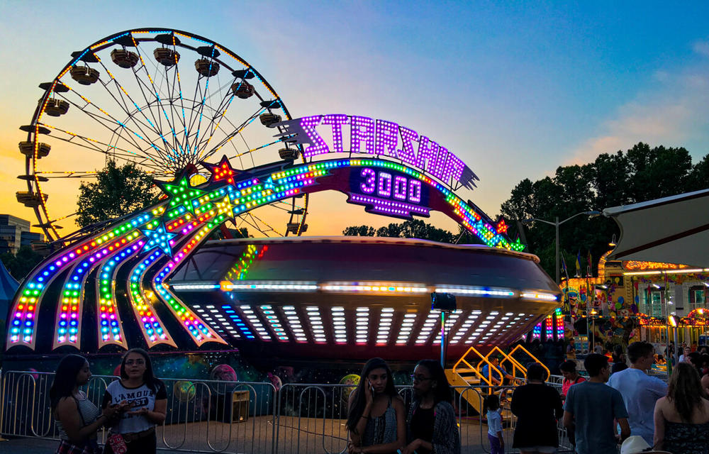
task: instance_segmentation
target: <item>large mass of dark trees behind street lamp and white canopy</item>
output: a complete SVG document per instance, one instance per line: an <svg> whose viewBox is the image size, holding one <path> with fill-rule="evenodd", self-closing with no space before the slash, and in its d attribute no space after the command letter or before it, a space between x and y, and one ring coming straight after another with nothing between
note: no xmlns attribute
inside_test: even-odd
<svg viewBox="0 0 709 454"><path fill-rule="evenodd" d="M518 233L516 223L540 218L554 222L583 211L633 204L659 197L681 194L709 187L709 155L692 165L685 148L651 148L637 143L625 153L603 153L586 165L557 168L554 177L532 182L523 179L501 206L508 219L508 235ZM532 222L525 228L527 251L539 256L542 267L554 275L554 226ZM586 257L593 262L609 249L608 242L620 231L610 218L578 216L559 228L559 243L569 273L574 272L576 254L581 253L581 268L586 270ZM596 263L593 265L595 266Z"/></svg>

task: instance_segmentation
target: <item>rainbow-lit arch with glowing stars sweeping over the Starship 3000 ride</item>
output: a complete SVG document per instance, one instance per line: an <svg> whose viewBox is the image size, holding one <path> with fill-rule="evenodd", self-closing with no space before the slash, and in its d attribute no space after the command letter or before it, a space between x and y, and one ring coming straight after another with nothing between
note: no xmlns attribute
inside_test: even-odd
<svg viewBox="0 0 709 454"><path fill-rule="evenodd" d="M94 270L99 276L94 301L99 314L98 348L106 345L128 348L115 289L118 269L124 266L130 270L124 282L128 304L148 348L160 344L178 346L156 314L155 307L159 304L169 310L196 347L209 342L227 344L169 289L169 277L209 233L228 219L298 194L323 190L347 192L347 172L363 167L401 172L427 185L432 197L429 208L447 214L486 245L506 250L524 248L519 240L511 241L506 237L503 221L493 226L484 213L445 185L396 162L350 157L303 165L277 162L238 171L223 157L218 165L204 165L211 171L208 182L192 187L184 176L169 183L159 182L167 199L65 245L35 267L13 299L7 348L24 345L35 350L39 323L45 323L38 320L40 305L45 304L54 304L57 308L52 326L52 350L64 345L82 348L82 314L89 303L84 301L84 289ZM61 281L62 294L51 301L48 289L55 281Z"/></svg>

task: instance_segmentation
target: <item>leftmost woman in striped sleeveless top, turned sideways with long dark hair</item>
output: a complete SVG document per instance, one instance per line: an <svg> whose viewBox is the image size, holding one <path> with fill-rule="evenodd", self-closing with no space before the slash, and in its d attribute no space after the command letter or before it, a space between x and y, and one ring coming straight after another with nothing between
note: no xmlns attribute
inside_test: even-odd
<svg viewBox="0 0 709 454"><path fill-rule="evenodd" d="M99 453L96 432L116 408L107 407L103 413L79 389L89 382L89 362L79 355L67 355L57 366L54 382L49 390L52 415L57 421L60 445L57 454Z"/></svg>

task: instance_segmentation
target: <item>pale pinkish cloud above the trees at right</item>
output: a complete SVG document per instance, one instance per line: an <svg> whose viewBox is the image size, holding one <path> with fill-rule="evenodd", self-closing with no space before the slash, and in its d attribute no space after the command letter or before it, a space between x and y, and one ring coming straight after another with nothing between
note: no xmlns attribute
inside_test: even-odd
<svg viewBox="0 0 709 454"><path fill-rule="evenodd" d="M709 43L695 43L694 50L709 56ZM650 145L688 147L709 128L707 74L705 64L675 72L656 71L653 90L640 92L635 99L618 107L613 117L601 123L598 135L567 153L564 165L586 164L601 153L627 150L641 141ZM709 150L690 151L706 153Z"/></svg>

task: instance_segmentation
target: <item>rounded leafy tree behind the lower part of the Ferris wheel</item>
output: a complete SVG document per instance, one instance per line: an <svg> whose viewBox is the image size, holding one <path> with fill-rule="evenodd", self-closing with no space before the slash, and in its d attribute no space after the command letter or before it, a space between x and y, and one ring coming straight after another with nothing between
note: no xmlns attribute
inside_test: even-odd
<svg viewBox="0 0 709 454"><path fill-rule="evenodd" d="M135 164L117 166L108 161L96 174L96 182L79 187L77 224L81 227L118 218L157 201L157 188L152 178Z"/></svg>

